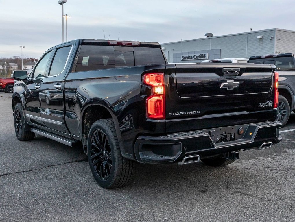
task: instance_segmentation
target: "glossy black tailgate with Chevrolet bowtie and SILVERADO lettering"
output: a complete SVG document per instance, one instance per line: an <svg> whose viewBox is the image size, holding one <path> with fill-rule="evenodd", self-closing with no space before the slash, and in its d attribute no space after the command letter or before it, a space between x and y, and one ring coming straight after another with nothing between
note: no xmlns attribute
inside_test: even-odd
<svg viewBox="0 0 295 222"><path fill-rule="evenodd" d="M166 132L273 120L274 65L172 67L165 72Z"/></svg>

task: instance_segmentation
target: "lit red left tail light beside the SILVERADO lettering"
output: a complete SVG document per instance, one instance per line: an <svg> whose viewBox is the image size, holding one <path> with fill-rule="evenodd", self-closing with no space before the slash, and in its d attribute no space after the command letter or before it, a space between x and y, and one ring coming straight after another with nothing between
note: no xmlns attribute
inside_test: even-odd
<svg viewBox="0 0 295 222"><path fill-rule="evenodd" d="M165 119L165 82L164 73L148 73L143 82L152 88L152 95L146 100L148 119Z"/></svg>

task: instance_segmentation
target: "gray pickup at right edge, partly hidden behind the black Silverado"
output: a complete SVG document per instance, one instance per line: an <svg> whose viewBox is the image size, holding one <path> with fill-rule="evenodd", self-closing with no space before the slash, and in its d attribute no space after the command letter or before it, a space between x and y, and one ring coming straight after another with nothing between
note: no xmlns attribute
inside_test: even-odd
<svg viewBox="0 0 295 222"><path fill-rule="evenodd" d="M282 126L295 111L295 57L294 53L251 56L248 63L276 65L278 71L278 117Z"/></svg>

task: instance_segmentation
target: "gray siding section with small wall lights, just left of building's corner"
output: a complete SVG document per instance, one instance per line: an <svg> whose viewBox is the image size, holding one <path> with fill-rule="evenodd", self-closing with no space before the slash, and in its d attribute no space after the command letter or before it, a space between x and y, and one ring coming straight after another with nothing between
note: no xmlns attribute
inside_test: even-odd
<svg viewBox="0 0 295 222"><path fill-rule="evenodd" d="M262 39L257 36L263 35ZM271 39L273 37L273 39ZM248 33L248 49L247 58L255 55L268 55L273 54L275 45L275 30L266 32Z"/></svg>

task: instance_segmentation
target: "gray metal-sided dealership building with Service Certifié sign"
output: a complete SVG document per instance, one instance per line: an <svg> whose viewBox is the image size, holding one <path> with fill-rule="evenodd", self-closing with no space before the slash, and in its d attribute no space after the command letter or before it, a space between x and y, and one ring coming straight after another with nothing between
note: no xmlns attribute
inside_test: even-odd
<svg viewBox="0 0 295 222"><path fill-rule="evenodd" d="M219 58L295 52L295 31L266 29L161 44L169 63L199 63Z"/></svg>

